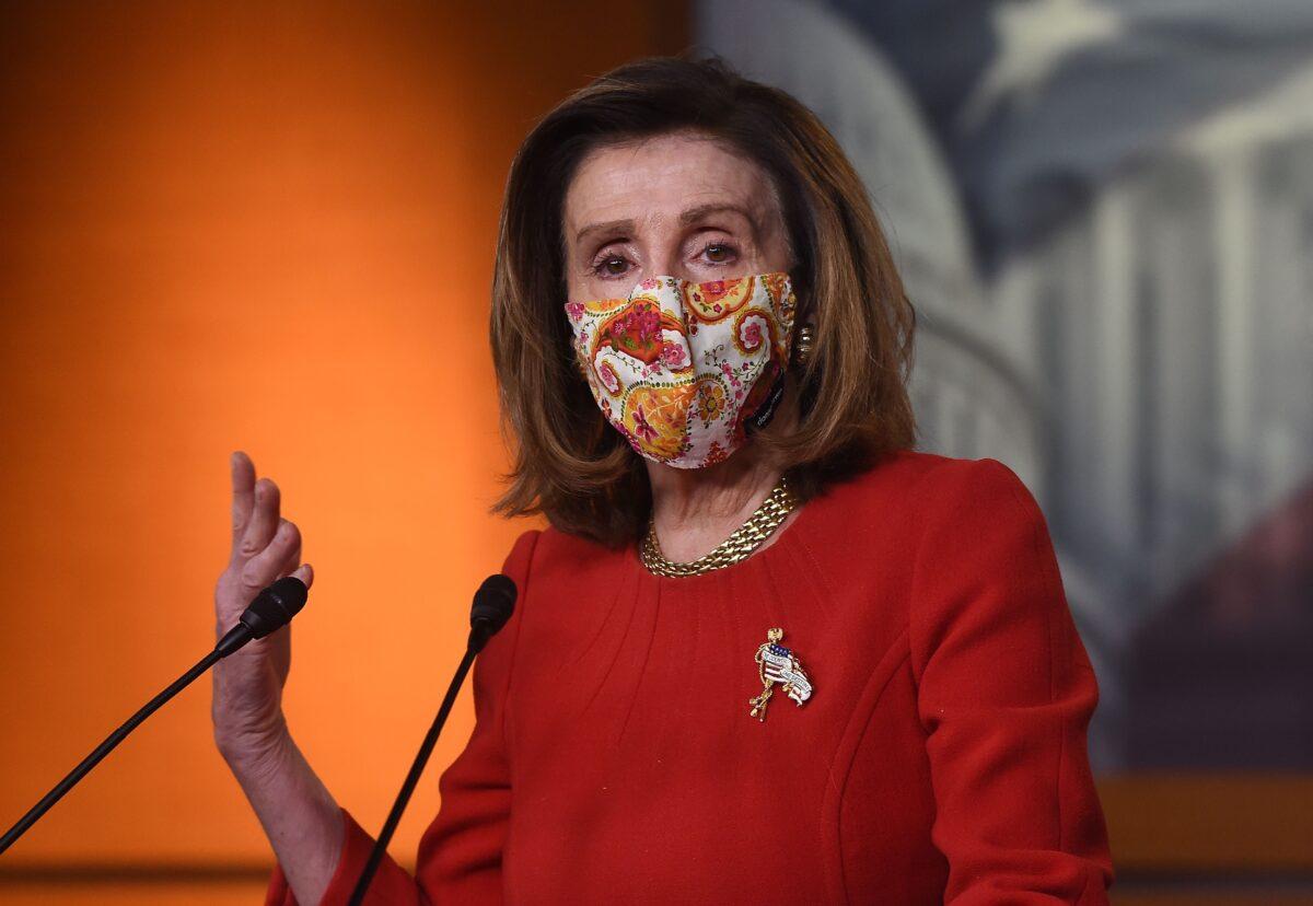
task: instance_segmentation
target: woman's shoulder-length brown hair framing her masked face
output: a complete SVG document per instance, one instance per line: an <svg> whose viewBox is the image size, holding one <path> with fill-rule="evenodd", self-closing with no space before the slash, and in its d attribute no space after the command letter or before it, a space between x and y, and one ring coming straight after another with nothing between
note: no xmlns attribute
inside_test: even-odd
<svg viewBox="0 0 1313 906"><path fill-rule="evenodd" d="M915 311L867 189L834 135L790 95L718 58L625 63L566 97L529 133L506 186L492 277L491 339L513 465L494 506L544 513L607 546L635 540L651 491L642 457L603 416L565 314L566 188L592 150L693 130L772 180L793 252L797 324L785 403L751 436L806 500L915 444L907 397Z"/></svg>

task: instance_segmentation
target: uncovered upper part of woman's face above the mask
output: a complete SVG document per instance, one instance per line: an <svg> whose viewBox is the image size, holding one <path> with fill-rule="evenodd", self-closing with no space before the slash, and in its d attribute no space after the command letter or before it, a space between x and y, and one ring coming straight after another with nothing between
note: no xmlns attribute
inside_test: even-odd
<svg viewBox="0 0 1313 906"><path fill-rule="evenodd" d="M695 133L591 151L563 221L571 301L624 297L658 274L702 282L792 264L765 172Z"/></svg>

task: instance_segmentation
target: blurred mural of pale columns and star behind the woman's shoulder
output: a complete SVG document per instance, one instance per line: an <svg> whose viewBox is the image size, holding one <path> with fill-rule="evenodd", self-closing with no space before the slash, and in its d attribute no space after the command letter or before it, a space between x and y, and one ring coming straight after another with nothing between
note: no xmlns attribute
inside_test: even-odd
<svg viewBox="0 0 1313 906"><path fill-rule="evenodd" d="M919 314L922 448L1043 506L1091 756L1313 768L1313 3L704 0Z"/></svg>

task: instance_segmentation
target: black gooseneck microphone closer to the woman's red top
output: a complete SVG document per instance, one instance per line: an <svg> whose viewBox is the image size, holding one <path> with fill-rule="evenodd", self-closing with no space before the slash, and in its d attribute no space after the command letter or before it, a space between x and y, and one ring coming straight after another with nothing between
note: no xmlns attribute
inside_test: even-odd
<svg viewBox="0 0 1313 906"><path fill-rule="evenodd" d="M470 638L465 643L465 657L461 658L461 663L456 667L456 675L452 676L452 684L446 687L446 697L442 699L442 705L437 709L437 717L433 718L433 725L424 735L424 742L420 743L410 773L406 775L406 780L397 793L397 801L393 802L393 810L387 813L383 830L378 834L374 848L369 853L369 861L365 863L365 868L360 872L356 889L351 893L349 906L360 906L364 902L365 893L369 892L369 882L374 880L374 872L378 871L378 863L382 861L383 853L387 852L387 844L391 843L393 834L397 832L397 825L402 821L402 813L406 811L410 797L415 792L415 787L419 785L420 775L424 773L424 766L428 764L429 755L433 754L437 734L442 731L446 716L456 702L456 693L461 691L461 684L465 683L465 675L470 671L474 657L483 650L487 641L511 618L511 613L515 612L516 595L515 582L511 576L500 572L490 575L479 586L479 590L474 592L474 605L470 608Z"/></svg>

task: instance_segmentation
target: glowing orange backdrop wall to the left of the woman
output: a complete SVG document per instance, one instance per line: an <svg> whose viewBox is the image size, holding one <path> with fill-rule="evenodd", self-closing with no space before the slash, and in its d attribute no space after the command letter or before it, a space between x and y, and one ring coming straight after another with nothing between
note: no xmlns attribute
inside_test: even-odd
<svg viewBox="0 0 1313 906"><path fill-rule="evenodd" d="M486 513L506 464L486 323L511 155L590 76L683 46L680 12L7 4L0 825L213 643L238 448L278 481L316 569L293 731L382 823L470 593L524 528ZM466 689L402 859L470 721ZM202 681L0 860L0 902L79 872L67 902L109 902L116 878L123 902L249 902L269 859ZM130 889L161 867L223 882L204 901Z"/></svg>

